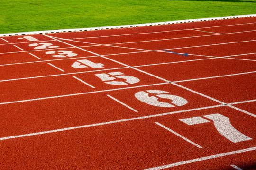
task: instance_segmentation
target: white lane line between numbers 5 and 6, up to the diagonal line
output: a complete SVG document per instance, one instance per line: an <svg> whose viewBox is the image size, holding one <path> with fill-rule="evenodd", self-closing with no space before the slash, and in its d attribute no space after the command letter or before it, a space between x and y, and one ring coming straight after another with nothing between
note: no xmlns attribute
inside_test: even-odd
<svg viewBox="0 0 256 170"><path fill-rule="evenodd" d="M147 86L154 86L154 85L165 85L165 84L169 84L169 83L165 82L165 83L157 83L157 84L151 84L151 85L138 85L138 86L133 86L133 87L124 87L124 88L117 88L117 89L110 89L110 90L101 90L101 91L85 92L85 93L73 93L73 94L42 97L42 98L27 99L27 100L21 100L21 101L13 101L13 102L2 102L2 103L0 103L0 105L2 105L2 104L11 104L11 103L19 103L19 102L30 102L30 101L37 101L37 100L54 99L54 98L59 98L59 97L68 97L68 96L91 94L91 93L110 92L110 91L116 91L116 90L132 89L132 88L147 87Z"/></svg>

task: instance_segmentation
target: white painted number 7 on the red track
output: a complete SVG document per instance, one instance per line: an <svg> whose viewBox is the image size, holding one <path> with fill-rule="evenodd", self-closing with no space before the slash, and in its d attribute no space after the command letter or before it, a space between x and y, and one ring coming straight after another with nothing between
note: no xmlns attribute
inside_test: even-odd
<svg viewBox="0 0 256 170"><path fill-rule="evenodd" d="M217 131L222 136L224 136L225 138L227 138L233 143L243 142L243 141L252 139L248 136L245 136L244 134L239 132L237 129L235 129L235 127L231 125L229 118L226 116L216 113L216 114L205 115L203 117L212 120ZM179 120L186 123L187 125L196 125L196 124L210 122L209 120L201 117L192 117L192 118L179 119Z"/></svg>

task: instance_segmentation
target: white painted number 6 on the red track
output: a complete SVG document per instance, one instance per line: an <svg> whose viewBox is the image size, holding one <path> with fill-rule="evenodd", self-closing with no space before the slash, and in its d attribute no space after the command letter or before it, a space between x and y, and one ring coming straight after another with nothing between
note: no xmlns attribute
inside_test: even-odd
<svg viewBox="0 0 256 170"><path fill-rule="evenodd" d="M145 102L146 104L152 105L152 106L158 106L158 107L175 107L175 106L183 106L188 103L188 101L180 96L175 96L171 94L166 94L169 92L165 92L162 90L147 90L146 92L141 91L135 93L135 97L141 101ZM156 94L153 96L152 94ZM171 103L168 102L160 102L158 101L159 98L162 99L170 99Z"/></svg>

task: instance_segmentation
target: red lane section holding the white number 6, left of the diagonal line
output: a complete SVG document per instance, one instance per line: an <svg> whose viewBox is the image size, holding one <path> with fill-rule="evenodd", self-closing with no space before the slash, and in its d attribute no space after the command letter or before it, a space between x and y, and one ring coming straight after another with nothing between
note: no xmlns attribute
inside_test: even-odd
<svg viewBox="0 0 256 170"><path fill-rule="evenodd" d="M77 84L80 83L80 86L77 86L77 88L64 88L62 84L58 86L67 91L87 90L92 93L46 100L1 104L0 108L3 114L1 114L2 124L0 126L1 129L4 129L1 132L1 137L219 105L217 102L213 102L170 84L141 86L137 88L93 93L93 91L95 91L94 88L83 85L78 80L73 79L72 84L70 84L75 84L75 81L77 81ZM57 93L57 90L62 92L61 88L57 89L52 87L52 92L48 90L44 93ZM162 95L162 97L174 95L173 97L178 101L170 102L170 99L161 99L157 94L149 93L149 97L155 96L159 98L159 102L152 100L152 102L146 103L146 101L142 101L142 99L136 97L138 92L148 93L146 90L165 91L165 95ZM43 91L40 92L42 93ZM37 91L34 93L37 93ZM32 94L28 94L30 97L31 95ZM134 112L122 104L116 103L107 95L125 103L138 112ZM183 102L181 103L180 100ZM162 105L155 106L155 103ZM24 115L24 117L22 115ZM20 118L17 119L18 117Z"/></svg>

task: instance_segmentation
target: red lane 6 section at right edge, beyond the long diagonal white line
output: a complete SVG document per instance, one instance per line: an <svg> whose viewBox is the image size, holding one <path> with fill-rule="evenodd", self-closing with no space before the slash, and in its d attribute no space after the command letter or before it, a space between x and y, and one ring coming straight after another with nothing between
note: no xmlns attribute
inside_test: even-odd
<svg viewBox="0 0 256 170"><path fill-rule="evenodd" d="M256 73L251 73L192 82L180 82L178 84L229 103L239 102L241 99L256 99L255 77ZM255 110L252 113L255 114Z"/></svg>

